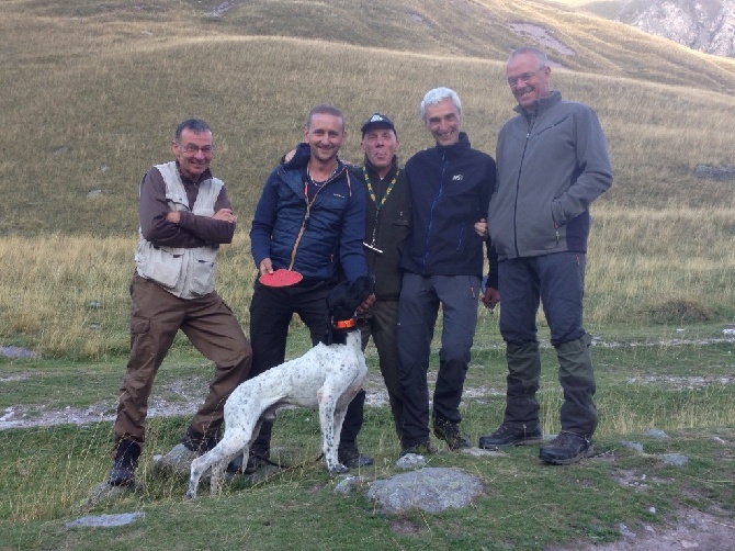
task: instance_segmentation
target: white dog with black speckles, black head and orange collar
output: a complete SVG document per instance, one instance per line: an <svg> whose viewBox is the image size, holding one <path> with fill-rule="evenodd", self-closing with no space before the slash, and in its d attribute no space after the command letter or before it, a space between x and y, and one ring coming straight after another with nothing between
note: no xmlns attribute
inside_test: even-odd
<svg viewBox="0 0 735 551"><path fill-rule="evenodd" d="M331 316L329 345L319 342L301 358L286 361L245 381L225 403L225 436L211 451L191 464L186 499L196 497L202 474L212 468L211 491L215 494L227 464L242 453L248 459L263 418L273 418L283 406L319 411L321 451L331 474L348 469L339 462L337 448L347 406L368 374L355 311L372 293L372 276L339 283L327 300Z"/></svg>

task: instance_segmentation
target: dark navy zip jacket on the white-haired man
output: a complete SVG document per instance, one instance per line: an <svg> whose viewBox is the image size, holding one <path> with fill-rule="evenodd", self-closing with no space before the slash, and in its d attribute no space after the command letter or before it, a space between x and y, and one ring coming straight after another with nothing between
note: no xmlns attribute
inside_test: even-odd
<svg viewBox="0 0 735 551"><path fill-rule="evenodd" d="M473 149L464 132L449 147L434 146L406 162L412 230L400 267L420 276L483 277L483 244L474 230L487 215L495 188L495 160ZM497 281L494 265L490 278ZM495 284L497 288L497 283Z"/></svg>

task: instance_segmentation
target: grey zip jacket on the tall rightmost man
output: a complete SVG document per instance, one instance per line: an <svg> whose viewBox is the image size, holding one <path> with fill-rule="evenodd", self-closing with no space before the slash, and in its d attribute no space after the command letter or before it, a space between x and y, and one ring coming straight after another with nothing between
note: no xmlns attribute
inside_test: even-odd
<svg viewBox="0 0 735 551"><path fill-rule="evenodd" d="M534 113L516 111L498 135L487 215L498 259L586 252L589 205L612 185L597 114L556 90L536 100Z"/></svg>

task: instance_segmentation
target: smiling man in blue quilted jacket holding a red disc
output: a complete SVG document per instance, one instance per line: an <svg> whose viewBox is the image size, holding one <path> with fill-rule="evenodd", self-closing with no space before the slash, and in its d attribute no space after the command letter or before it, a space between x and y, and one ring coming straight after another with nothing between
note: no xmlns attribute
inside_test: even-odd
<svg viewBox="0 0 735 551"><path fill-rule="evenodd" d="M304 144L296 159L269 176L250 229L252 258L259 276L285 268L303 276L291 286L265 286L256 279L250 302L252 368L249 378L285 359L289 324L294 314L309 328L312 344L329 328L327 296L340 278L354 281L368 273L365 188L350 175L338 153L347 131L333 105L317 105L308 115ZM307 162L297 159L306 157ZM374 296L372 297L374 300ZM339 460L349 468L372 459L358 450L365 393L350 403L342 425ZM270 458L272 421L264 420L250 448L246 472Z"/></svg>

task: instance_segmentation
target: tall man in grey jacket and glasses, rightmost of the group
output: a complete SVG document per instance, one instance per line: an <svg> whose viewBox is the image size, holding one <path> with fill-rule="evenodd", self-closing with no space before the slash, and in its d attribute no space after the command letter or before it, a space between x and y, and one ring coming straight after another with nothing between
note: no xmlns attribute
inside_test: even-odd
<svg viewBox="0 0 735 551"><path fill-rule="evenodd" d="M500 131L498 180L488 230L498 254L500 333L508 378L502 425L479 439L497 449L538 443L541 360L536 311L543 304L564 390L562 430L540 459L572 464L592 451L597 409L591 337L583 328L589 205L612 184L596 113L551 89L551 67L536 48L510 54L506 74L518 116Z"/></svg>

